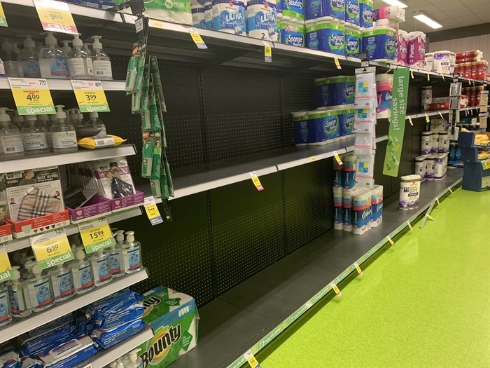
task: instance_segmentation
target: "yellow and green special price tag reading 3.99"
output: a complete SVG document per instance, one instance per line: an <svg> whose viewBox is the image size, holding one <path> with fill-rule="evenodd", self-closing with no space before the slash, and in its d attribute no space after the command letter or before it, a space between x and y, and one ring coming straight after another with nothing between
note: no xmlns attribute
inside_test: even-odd
<svg viewBox="0 0 490 368"><path fill-rule="evenodd" d="M111 111L101 81L72 80L71 86L80 112Z"/></svg>

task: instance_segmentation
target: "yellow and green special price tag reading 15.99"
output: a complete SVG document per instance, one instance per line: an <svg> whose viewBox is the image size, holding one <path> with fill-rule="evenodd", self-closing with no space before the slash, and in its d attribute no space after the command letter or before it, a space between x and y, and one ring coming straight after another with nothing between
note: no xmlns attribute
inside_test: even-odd
<svg viewBox="0 0 490 368"><path fill-rule="evenodd" d="M87 254L116 245L105 216L92 221L80 222L78 230Z"/></svg>

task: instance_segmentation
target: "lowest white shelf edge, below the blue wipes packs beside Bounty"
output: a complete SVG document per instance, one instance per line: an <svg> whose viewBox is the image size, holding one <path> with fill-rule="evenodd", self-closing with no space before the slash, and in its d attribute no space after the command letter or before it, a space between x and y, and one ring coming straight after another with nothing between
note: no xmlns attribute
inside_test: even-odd
<svg viewBox="0 0 490 368"><path fill-rule="evenodd" d="M118 343L117 345L109 348L107 350L101 349L97 352L97 354L92 357L84 360L80 364L76 364L76 367L86 367L87 364L90 364L92 368L104 368L109 363L118 359L125 355L125 353L130 352L137 346L141 345L141 343L145 343L149 339L152 339L154 336L153 330L150 325L147 325L141 332L131 336L129 339Z"/></svg>

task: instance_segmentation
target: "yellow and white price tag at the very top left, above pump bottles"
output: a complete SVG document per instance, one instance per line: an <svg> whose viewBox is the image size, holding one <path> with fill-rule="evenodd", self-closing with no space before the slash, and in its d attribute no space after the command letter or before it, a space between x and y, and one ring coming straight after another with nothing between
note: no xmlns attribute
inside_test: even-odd
<svg viewBox="0 0 490 368"><path fill-rule="evenodd" d="M55 0L34 0L34 6L45 31L78 34L68 4Z"/></svg>

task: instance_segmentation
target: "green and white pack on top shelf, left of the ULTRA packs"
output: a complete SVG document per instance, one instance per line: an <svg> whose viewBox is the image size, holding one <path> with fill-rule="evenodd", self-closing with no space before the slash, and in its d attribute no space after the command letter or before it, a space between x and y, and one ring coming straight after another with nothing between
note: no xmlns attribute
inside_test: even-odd
<svg viewBox="0 0 490 368"><path fill-rule="evenodd" d="M193 16L190 13L190 0L145 1L145 14L149 18L166 20L167 22L193 24Z"/></svg>

